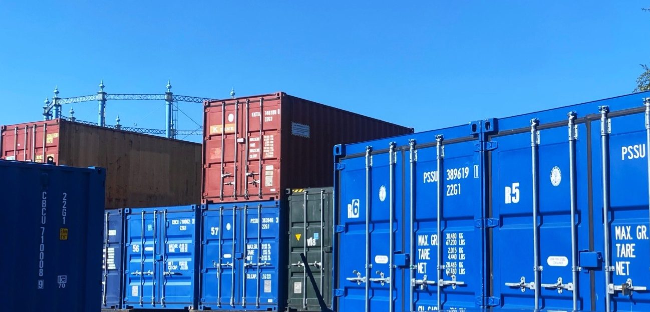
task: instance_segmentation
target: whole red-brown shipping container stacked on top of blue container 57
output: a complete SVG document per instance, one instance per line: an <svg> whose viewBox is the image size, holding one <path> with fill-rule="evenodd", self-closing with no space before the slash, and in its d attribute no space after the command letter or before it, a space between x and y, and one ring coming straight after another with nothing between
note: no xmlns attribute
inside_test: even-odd
<svg viewBox="0 0 650 312"><path fill-rule="evenodd" d="M277 200L286 188L331 185L335 144L413 133L283 92L204 105L205 203Z"/></svg>

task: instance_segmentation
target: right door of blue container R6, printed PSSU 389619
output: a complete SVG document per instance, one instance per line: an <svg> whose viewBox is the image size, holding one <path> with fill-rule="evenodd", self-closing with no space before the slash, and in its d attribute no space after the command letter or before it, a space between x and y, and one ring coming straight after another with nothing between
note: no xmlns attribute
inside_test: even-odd
<svg viewBox="0 0 650 312"><path fill-rule="evenodd" d="M413 218L404 236L413 269L405 270L411 283L404 300L411 304L403 311L474 309L483 292L480 153L475 140L438 138L426 148L411 141L407 151L406 210Z"/></svg>

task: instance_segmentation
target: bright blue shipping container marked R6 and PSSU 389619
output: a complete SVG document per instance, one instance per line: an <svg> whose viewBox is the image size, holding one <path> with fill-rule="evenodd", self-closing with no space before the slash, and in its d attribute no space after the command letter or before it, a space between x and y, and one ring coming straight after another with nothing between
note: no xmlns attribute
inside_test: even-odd
<svg viewBox="0 0 650 312"><path fill-rule="evenodd" d="M463 125L335 148L335 310L476 307L485 275L478 133Z"/></svg>

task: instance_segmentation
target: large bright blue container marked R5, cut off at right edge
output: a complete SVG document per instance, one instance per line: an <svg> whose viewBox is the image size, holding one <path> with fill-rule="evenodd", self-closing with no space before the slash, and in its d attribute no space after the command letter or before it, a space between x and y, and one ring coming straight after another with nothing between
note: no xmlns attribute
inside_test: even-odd
<svg viewBox="0 0 650 312"><path fill-rule="evenodd" d="M649 95L499 120L489 137L498 308L650 309Z"/></svg>

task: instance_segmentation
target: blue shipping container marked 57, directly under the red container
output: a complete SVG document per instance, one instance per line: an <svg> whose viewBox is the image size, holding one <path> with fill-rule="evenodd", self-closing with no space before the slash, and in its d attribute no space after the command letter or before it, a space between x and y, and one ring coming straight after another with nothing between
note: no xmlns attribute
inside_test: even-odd
<svg viewBox="0 0 650 312"><path fill-rule="evenodd" d="M211 204L201 213L202 310L278 311L286 301L279 201ZM279 270L282 269L282 272Z"/></svg>

